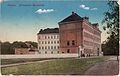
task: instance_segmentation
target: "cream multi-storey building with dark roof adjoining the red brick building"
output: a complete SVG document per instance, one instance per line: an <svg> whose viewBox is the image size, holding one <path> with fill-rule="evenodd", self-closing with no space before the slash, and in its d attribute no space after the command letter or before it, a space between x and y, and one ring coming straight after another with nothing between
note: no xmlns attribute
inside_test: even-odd
<svg viewBox="0 0 120 76"><path fill-rule="evenodd" d="M59 29L47 28L37 34L39 54L59 53Z"/></svg>

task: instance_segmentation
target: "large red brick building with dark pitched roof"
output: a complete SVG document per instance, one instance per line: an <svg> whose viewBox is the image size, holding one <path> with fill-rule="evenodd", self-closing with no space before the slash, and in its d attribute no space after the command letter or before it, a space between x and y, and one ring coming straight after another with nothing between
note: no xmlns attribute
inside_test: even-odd
<svg viewBox="0 0 120 76"><path fill-rule="evenodd" d="M59 24L60 51L79 55L99 55L101 52L101 31L98 23L91 24L88 17L72 12Z"/></svg>

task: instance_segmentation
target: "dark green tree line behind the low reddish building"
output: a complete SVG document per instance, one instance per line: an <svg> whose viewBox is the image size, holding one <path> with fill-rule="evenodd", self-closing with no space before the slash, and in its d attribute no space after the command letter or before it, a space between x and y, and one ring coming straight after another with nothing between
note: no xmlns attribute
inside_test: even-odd
<svg viewBox="0 0 120 76"><path fill-rule="evenodd" d="M26 42L15 41L13 43L2 42L1 43L1 54L14 54L15 48L28 48L26 43L30 43L35 48L37 47L37 43L31 42L31 41L26 41Z"/></svg>

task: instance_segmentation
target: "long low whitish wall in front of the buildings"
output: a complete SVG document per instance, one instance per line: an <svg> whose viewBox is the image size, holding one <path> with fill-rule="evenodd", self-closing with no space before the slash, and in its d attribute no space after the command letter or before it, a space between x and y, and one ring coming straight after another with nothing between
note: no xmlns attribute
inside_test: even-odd
<svg viewBox="0 0 120 76"><path fill-rule="evenodd" d="M13 59L13 58L70 58L70 57L78 57L78 54L0 55L1 59Z"/></svg>

